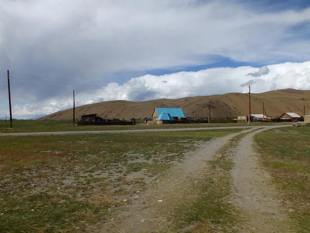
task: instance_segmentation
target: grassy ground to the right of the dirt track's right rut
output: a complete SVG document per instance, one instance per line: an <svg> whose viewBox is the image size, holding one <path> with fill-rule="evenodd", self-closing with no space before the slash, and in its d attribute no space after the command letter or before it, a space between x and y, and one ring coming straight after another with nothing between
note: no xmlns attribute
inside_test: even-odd
<svg viewBox="0 0 310 233"><path fill-rule="evenodd" d="M310 232L310 127L264 131L255 142L298 232Z"/></svg>

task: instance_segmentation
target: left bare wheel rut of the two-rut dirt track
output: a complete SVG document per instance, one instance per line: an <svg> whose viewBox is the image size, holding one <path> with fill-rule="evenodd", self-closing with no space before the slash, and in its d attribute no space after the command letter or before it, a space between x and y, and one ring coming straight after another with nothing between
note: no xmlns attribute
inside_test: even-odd
<svg viewBox="0 0 310 233"><path fill-rule="evenodd" d="M199 177L205 161L212 159L215 152L227 141L238 134L250 132L260 127L253 127L225 137L216 138L194 152L188 153L182 163L171 168L159 181L152 181L148 188L141 191L138 199L132 200L126 211L116 213L114 220L106 224L108 232L149 232L160 231L169 226L166 218L162 217L164 209L169 209L184 199L184 193Z"/></svg>

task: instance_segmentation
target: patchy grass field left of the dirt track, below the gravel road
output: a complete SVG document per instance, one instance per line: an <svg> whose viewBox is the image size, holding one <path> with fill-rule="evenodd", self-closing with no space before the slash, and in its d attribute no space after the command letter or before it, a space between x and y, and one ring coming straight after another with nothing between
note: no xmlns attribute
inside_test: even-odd
<svg viewBox="0 0 310 233"><path fill-rule="evenodd" d="M181 161L199 132L0 137L0 232L87 232Z"/></svg>

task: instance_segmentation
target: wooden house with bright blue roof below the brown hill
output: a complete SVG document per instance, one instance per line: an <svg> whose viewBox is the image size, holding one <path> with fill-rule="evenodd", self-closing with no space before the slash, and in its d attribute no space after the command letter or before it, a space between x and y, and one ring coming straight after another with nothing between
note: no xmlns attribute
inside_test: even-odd
<svg viewBox="0 0 310 233"><path fill-rule="evenodd" d="M186 120L186 116L181 108L155 108L152 118L154 121Z"/></svg>

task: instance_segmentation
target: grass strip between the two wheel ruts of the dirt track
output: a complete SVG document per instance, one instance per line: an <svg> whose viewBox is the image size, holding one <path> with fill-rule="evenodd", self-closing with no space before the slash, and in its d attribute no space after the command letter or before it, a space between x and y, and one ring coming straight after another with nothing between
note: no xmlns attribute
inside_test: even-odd
<svg viewBox="0 0 310 233"><path fill-rule="evenodd" d="M206 161L200 178L188 185L186 198L167 216L173 223L171 232L236 232L232 226L242 221L240 211L229 200L232 196L233 149L246 133L233 137ZM190 183L193 183L190 182ZM191 226L188 229L188 226Z"/></svg>

